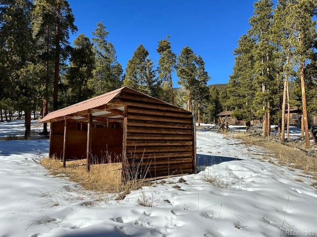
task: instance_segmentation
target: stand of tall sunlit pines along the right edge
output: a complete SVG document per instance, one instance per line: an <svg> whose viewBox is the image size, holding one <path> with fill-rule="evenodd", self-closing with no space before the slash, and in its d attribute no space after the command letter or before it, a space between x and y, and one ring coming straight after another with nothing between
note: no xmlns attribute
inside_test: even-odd
<svg viewBox="0 0 317 237"><path fill-rule="evenodd" d="M309 124L317 115L317 1L278 0L273 6L272 0L254 3L250 29L238 40L233 73L218 99L236 118L262 119L264 136L279 124L282 141L284 129L289 132L285 115L298 106L309 147Z"/></svg>

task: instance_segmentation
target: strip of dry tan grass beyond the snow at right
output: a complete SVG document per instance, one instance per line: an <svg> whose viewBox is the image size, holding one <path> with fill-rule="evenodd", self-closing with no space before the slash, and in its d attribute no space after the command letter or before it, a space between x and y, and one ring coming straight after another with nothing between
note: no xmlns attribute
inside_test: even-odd
<svg viewBox="0 0 317 237"><path fill-rule="evenodd" d="M290 170L301 169L305 174L310 174L317 179L317 159L300 150L303 145L301 142L288 142L286 146L275 137L263 138L246 133L235 134L234 138L242 139L247 145L264 147L278 160L274 162L275 164L287 165Z"/></svg>

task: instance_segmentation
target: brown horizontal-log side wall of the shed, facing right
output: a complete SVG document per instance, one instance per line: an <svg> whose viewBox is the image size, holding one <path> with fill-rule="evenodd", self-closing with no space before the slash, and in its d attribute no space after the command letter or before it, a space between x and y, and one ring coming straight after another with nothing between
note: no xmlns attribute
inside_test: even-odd
<svg viewBox="0 0 317 237"><path fill-rule="evenodd" d="M124 152L131 175L137 172L150 178L194 172L192 113L129 93L122 93L117 103L127 105Z"/></svg>

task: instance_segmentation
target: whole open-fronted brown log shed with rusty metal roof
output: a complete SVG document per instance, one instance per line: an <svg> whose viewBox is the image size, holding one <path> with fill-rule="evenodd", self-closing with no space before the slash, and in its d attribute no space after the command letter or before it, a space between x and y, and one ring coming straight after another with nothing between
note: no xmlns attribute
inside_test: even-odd
<svg viewBox="0 0 317 237"><path fill-rule="evenodd" d="M196 130L193 114L159 99L122 87L54 111L50 157L122 162L124 180L193 173ZM134 173L133 173L134 172ZM143 177L142 177L143 178Z"/></svg>

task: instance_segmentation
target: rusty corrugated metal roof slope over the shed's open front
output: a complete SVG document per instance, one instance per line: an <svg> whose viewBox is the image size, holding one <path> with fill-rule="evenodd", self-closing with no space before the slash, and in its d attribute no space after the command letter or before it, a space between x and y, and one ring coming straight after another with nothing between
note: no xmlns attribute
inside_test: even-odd
<svg viewBox="0 0 317 237"><path fill-rule="evenodd" d="M79 103L74 104L74 105L70 105L70 106L65 107L63 109L53 111L53 112L49 113L47 116L45 116L44 118L42 118L40 120L40 122L49 122L53 118L59 118L59 117L71 115L74 113L78 113L81 111L94 109L94 108L102 106L102 105L106 105L115 96L117 96L124 88L126 88L126 87L122 87L122 88L110 91L106 94L99 95L97 97L79 102Z"/></svg>

